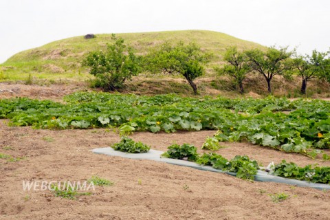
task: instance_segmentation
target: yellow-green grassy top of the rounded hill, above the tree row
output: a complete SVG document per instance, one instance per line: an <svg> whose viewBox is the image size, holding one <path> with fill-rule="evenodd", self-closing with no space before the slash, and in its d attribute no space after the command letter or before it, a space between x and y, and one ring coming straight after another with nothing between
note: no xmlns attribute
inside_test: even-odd
<svg viewBox="0 0 330 220"><path fill-rule="evenodd" d="M236 39L228 34L203 30L129 33L117 36L121 36L141 54L165 41L195 42L202 50L215 55L210 66L221 63L221 55L230 45L236 45L239 50L263 48L257 43ZM25 50L0 65L0 81L26 80L29 75L35 79L86 80L91 76L87 74L87 69L80 65L83 56L90 51L105 50L107 43L111 42L111 34L96 34L95 39L86 40L83 36L76 36Z"/></svg>

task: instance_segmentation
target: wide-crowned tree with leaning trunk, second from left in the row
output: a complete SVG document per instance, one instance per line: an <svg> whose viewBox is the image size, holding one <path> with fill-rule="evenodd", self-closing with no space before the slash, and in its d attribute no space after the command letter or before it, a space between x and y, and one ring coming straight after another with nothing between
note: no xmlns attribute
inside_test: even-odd
<svg viewBox="0 0 330 220"><path fill-rule="evenodd" d="M158 50L149 53L145 59L145 69L154 74L180 74L188 81L190 87L197 94L197 85L193 80L203 75L203 64L208 63L210 55L203 54L195 43L177 45L164 43Z"/></svg>

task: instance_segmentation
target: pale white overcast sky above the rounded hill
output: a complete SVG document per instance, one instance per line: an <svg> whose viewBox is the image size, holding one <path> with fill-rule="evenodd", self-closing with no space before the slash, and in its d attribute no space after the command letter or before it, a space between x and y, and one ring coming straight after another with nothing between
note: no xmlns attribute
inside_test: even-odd
<svg viewBox="0 0 330 220"><path fill-rule="evenodd" d="M300 54L330 47L329 0L0 0L0 63L88 33L213 30Z"/></svg>

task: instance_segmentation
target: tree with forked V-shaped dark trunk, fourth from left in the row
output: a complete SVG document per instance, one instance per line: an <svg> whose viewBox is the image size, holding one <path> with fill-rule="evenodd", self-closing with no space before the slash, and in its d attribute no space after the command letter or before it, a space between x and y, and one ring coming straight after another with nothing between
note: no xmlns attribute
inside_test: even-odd
<svg viewBox="0 0 330 220"><path fill-rule="evenodd" d="M287 65L284 65L284 62L293 52L287 52L287 47L281 47L279 50L269 47L266 52L254 49L245 53L248 56L251 68L265 77L268 92L272 93L272 88L270 87L272 78L285 72Z"/></svg>

